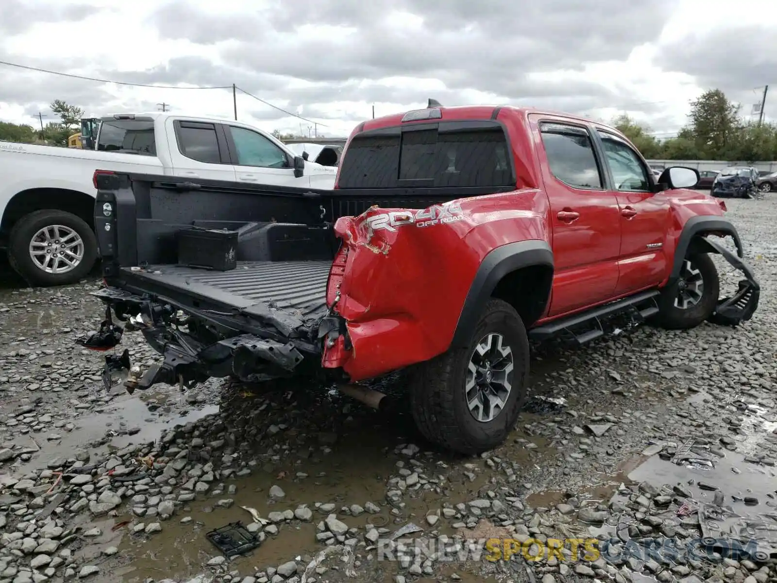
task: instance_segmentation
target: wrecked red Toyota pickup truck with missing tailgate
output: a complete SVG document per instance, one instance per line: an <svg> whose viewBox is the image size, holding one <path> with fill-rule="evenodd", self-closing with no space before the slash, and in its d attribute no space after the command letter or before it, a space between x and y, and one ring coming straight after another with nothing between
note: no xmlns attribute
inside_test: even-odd
<svg viewBox="0 0 777 583"><path fill-rule="evenodd" d="M141 328L165 361L133 388L407 368L420 431L457 452L514 427L530 339L582 343L623 317L737 324L758 305L724 204L685 190L695 169L656 179L618 131L560 113L430 106L365 121L333 191L96 180L108 307L86 344L120 340L111 309ZM183 258L181 233L198 229L224 234L199 253L224 246L235 268ZM730 297L709 253L744 274Z"/></svg>

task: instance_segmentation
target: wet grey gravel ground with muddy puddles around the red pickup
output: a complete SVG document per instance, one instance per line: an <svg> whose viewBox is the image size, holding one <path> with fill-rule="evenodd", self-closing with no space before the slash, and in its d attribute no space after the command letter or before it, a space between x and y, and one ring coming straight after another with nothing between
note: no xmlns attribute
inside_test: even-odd
<svg viewBox="0 0 777 583"><path fill-rule="evenodd" d="M471 459L423 442L402 399L106 393L103 357L74 344L99 323L97 281L0 290L0 583L777 581L777 197L727 204L754 319L535 346L514 434ZM718 264L725 290L738 278ZM156 358L138 333L122 346ZM206 533L235 521L261 543L228 560ZM765 555L712 542L747 529Z"/></svg>

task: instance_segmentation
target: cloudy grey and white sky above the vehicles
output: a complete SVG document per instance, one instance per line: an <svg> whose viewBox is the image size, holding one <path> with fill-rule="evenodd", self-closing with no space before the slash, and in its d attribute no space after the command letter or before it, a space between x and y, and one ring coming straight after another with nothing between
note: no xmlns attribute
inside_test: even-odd
<svg viewBox="0 0 777 583"><path fill-rule="evenodd" d="M773 83L771 0L0 0L0 61L148 86L232 86L346 135L372 115L515 104L618 113L671 136L723 89L751 113ZM39 124L53 99L87 115L232 117L232 89L122 86L0 65L0 120ZM771 75L771 76L770 76ZM240 120L307 133L246 94Z"/></svg>

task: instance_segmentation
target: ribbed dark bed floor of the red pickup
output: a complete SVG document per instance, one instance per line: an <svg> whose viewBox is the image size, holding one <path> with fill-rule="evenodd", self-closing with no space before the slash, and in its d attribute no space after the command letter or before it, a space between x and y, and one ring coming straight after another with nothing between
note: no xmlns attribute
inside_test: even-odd
<svg viewBox="0 0 777 583"><path fill-rule="evenodd" d="M326 311L330 267L330 261L241 261L231 271L149 265L141 271L123 267L122 272L129 287L138 281L145 291L153 288L171 299L177 291L240 309L272 302L272 307L308 319Z"/></svg>

